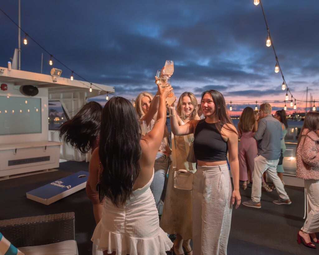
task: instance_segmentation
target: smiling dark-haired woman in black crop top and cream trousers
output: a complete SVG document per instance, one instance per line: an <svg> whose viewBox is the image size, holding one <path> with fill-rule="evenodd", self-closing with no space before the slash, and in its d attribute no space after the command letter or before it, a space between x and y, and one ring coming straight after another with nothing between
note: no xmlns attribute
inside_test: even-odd
<svg viewBox="0 0 319 255"><path fill-rule="evenodd" d="M172 105L174 106L174 105ZM193 180L194 254L227 254L232 205L241 203L239 193L238 134L227 113L223 95L216 90L202 93L204 120L179 126L171 117L174 135L194 133L197 172ZM174 114L175 107L171 107ZM234 191L226 162L227 151Z"/></svg>

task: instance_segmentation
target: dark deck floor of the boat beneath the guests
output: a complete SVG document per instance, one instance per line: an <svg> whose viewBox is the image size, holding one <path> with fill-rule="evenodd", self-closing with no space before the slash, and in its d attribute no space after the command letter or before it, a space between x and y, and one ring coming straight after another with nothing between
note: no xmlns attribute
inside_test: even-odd
<svg viewBox="0 0 319 255"><path fill-rule="evenodd" d="M0 219L75 212L79 254L90 254L95 222L85 190L48 206L26 198L26 192L81 170L88 171L88 163L69 161L61 163L55 172L0 181ZM291 205L273 204L271 201L278 196L273 191L262 193L261 209L240 206L233 210L228 254L318 254L317 250L296 242L297 232L304 222L303 188L286 186L286 191L292 200ZM245 191L241 189L242 201L248 200L250 193L251 185ZM214 212L211 215L213 217Z"/></svg>

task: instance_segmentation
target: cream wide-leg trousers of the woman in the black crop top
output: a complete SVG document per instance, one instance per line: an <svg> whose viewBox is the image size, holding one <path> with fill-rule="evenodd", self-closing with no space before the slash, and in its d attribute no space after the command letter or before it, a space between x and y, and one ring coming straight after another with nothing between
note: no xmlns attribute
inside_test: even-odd
<svg viewBox="0 0 319 255"><path fill-rule="evenodd" d="M193 254L226 255L232 218L227 164L197 166L193 179Z"/></svg>

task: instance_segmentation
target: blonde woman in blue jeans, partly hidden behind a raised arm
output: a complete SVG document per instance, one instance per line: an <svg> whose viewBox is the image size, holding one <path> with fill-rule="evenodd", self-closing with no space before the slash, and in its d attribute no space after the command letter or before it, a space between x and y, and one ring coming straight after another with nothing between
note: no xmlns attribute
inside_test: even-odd
<svg viewBox="0 0 319 255"><path fill-rule="evenodd" d="M158 95L158 92L156 95ZM146 121L148 131L152 130L154 126L157 117L156 112L158 109L158 104L159 97L153 97L153 95L149 92L141 92L136 98L135 112L137 113L137 117L139 119ZM164 137L156 154L154 164L154 179L150 186L158 212L160 198L164 189L165 175L169 167L170 154L171 149L169 148L168 144L168 131L165 125Z"/></svg>

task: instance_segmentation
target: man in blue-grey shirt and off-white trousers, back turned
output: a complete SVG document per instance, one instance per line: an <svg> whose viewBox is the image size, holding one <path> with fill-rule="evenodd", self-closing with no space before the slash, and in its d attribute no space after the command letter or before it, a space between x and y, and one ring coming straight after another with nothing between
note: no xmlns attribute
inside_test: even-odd
<svg viewBox="0 0 319 255"><path fill-rule="evenodd" d="M280 157L280 141L283 139L281 123L272 117L271 105L268 103L260 105L259 116L261 120L254 135L254 138L258 141L258 155L254 159L251 200L243 202L243 205L261 208L261 177L265 171L271 177L279 195L279 199L274 200L273 203L289 205L291 201L276 170Z"/></svg>

